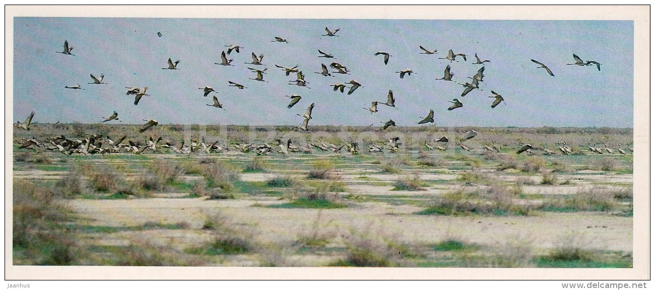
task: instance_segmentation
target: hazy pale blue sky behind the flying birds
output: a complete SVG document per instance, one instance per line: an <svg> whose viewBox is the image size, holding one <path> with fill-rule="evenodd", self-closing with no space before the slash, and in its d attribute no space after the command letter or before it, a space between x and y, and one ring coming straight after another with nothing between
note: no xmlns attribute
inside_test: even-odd
<svg viewBox="0 0 655 290"><path fill-rule="evenodd" d="M339 37L321 36L325 27L341 29ZM158 37L157 32L161 33ZM274 37L289 43L271 42ZM75 56L56 53L64 40ZM225 45L235 66L215 65ZM419 45L437 54L420 54ZM318 49L335 59L318 58ZM440 60L449 49L467 55L467 62ZM375 52L392 55L388 65ZM258 69L245 64L251 53L264 54ZM485 63L480 88L461 98L457 82L470 81ZM566 65L595 60L595 66ZM180 60L178 70L162 69L166 60ZM552 69L551 77L531 59ZM350 75L323 77L321 63L339 62ZM289 85L274 65L305 73L310 88ZM436 81L451 64L457 82ZM412 69L400 79L395 73ZM331 69L333 71L333 69ZM108 84L87 84L90 74L105 75ZM330 84L354 79L362 84L352 95L333 92ZM227 81L244 84L239 90ZM81 84L85 90L64 88ZM126 96L126 86L148 86L139 105ZM204 98L202 88L217 92ZM347 90L347 88L346 88ZM398 109L386 101L394 91ZM491 90L506 105L491 109ZM285 95L302 100L291 109ZM217 96L225 111L205 104ZM464 107L447 111L449 100ZM121 124L154 118L162 124L300 124L315 103L311 125L369 125L389 118L398 126L416 124L435 111L438 126L610 126L633 127L633 22L533 20L295 20L195 18L14 18L14 122L35 111L34 122L92 123L118 111ZM118 121L112 121L118 122ZM377 125L376 125L377 126ZM426 125L423 125L426 126Z"/></svg>

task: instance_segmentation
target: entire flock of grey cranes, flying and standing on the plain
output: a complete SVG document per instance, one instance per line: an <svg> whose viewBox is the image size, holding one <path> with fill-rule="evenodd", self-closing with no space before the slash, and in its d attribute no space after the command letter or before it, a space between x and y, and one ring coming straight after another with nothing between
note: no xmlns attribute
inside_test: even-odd
<svg viewBox="0 0 655 290"><path fill-rule="evenodd" d="M330 30L328 27L325 28L326 34L322 36L327 36L327 37L339 37L337 35L337 32L340 31L340 29L334 29ZM161 37L161 33L157 33L159 37ZM274 39L271 42L276 42L276 43L289 43L286 39L283 39L282 37L274 37ZM244 49L243 46L240 45L226 45L227 49L223 50L221 52L221 62L216 62L214 64L216 65L223 65L223 66L234 66L233 64L233 59L228 59L227 56L230 55L233 52L236 52L236 54L240 53L240 50ZM428 50L424 48L423 46L419 45L420 49L420 54L426 54L426 56L430 55L436 55L437 50ZM69 56L75 56L75 54L72 54L71 51L73 50L73 46L69 45L68 41L64 41L64 50L58 53L69 55ZM329 54L327 52L324 52L320 49L318 49L318 58L326 58L326 59L332 59L335 60L335 56L333 54ZM267 74L267 68L259 69L259 68L254 68L255 66L266 66L263 63L264 55L255 54L255 52L252 52L252 61L251 62L246 62L248 66L246 66L252 73L255 73L254 78L250 78L250 80L253 81L260 81L260 82L267 82L264 80L264 75ZM390 58L392 57L391 54L388 52L375 52L373 56L383 56L383 63L384 65L387 65L388 62L390 61ZM476 58L476 62L471 63L472 65L482 65L479 67L477 70L477 73L473 75L472 77L468 77L470 81L460 83L457 82L458 84L464 86L464 90L462 91L462 94L460 94L460 97L463 98L473 90L482 90L479 88L479 85L481 82L483 82L484 78L484 71L485 71L485 66L484 64L489 62L491 63L490 60L481 60L478 56L477 53L474 54ZM593 60L588 60L588 61L583 61L580 57L578 57L576 54L573 54L574 58L574 63L567 63L567 65L579 65L579 66L588 66L588 65L595 65L597 69L600 71L601 69L601 63L595 62ZM462 62L466 62L466 54L463 53L455 53L453 50L448 50L447 55L443 58L439 58L441 60L449 60L451 63L456 62L459 63L460 60ZM537 63L540 65L538 68L544 68L548 72L549 75L553 76L553 72L551 69L545 65L542 62L538 62L536 60L531 60L534 63ZM168 58L166 62L166 67L162 67L162 69L169 69L169 70L180 70L178 68L180 61L176 60L175 62L172 61L172 58ZM252 66L252 67L251 67ZM329 68L333 69L332 71ZM275 67L278 67L279 69L282 69L284 71L286 76L289 76L291 73L295 73L295 80L289 81L290 85L293 86L299 86L299 87L304 87L304 88L309 88L308 84L309 82L305 80L305 73L299 69L299 66L296 65L294 67L284 67L282 65L275 65ZM451 71L452 67L451 64L447 64L444 71L443 71L443 77L440 79L436 80L441 80L441 81L453 81L453 76L455 76L455 73ZM333 77L333 74L341 74L341 75L350 75L350 69L346 67L345 65L342 65L341 63L337 63L332 61L329 63L329 65L326 65L325 63L321 63L321 69L318 72L314 72L316 74L322 75L324 77ZM414 72L411 69L402 69L400 71L396 71L395 73L398 73L400 76L400 79L405 79L405 77L410 77ZM90 75L92 82L88 82L88 84L107 84L105 81L105 76L103 74L100 75L100 77L96 77L93 74ZM348 86L349 85L349 86ZM233 86L238 89L246 89L248 88L247 86L244 86L244 84L240 84L238 82L233 82L233 81L228 81L228 86ZM345 83L335 83L330 85L332 87L332 90L334 92L345 92L345 89L348 88L348 91L346 94L350 95L353 94L358 88L362 86L359 82L355 81L352 79L351 81L345 82ZM75 84L71 86L64 86L64 88L69 88L73 90L84 90L80 84ZM139 88L136 86L126 86L127 89L126 95L128 96L134 96L134 105L138 105L139 102L141 101L141 98L144 96L149 96L149 94L146 94L146 91L148 90L147 86L144 86L143 88ZM207 97L212 92L217 92L214 88L211 86L204 86L202 88L198 88L199 90L202 90L202 96ZM489 96L489 98L494 98L495 100L493 103L491 103L491 108L495 108L498 104L504 101L504 98L491 90L491 94L493 96ZM290 103L287 105L289 109L294 107L299 101L302 100L302 96L299 94L291 94L290 96L286 96L290 98ZM219 109L225 110L223 107L223 104L221 104L218 100L218 98L214 95L213 97L213 103L212 104L206 104L208 106L216 107ZM464 103L460 101L458 98L454 98L452 101L449 101L453 105L450 105L447 110L448 111L453 111L458 108L464 107ZM392 90L388 91L386 101L372 101L371 102L371 107L364 107L365 110L369 111L371 114L373 113L379 113L378 105L385 105L388 107L396 107L396 98L394 98L394 94ZM296 114L297 116L300 116L303 118L303 121L299 126L295 126L294 128L297 128L299 130L303 130L305 132L309 131L308 126L310 120L312 120L312 111L314 109L314 103L311 103L309 107L307 107L305 113L303 115ZM32 118L34 117L34 113L32 112L28 118L24 122L16 122L14 126L16 128L24 129L24 130L29 130L29 124L31 123ZM108 117L103 117L103 120L100 122L111 122L113 120L119 120L119 113L117 111L113 111L113 114L109 115ZM159 122L154 119L144 119L146 121L143 126L141 126L139 132L143 133L149 128L153 126L157 126ZM383 122L383 126L381 126L381 130L387 130L387 128L396 126L396 122L394 120L389 119L386 122ZM428 115L426 117L422 117L422 119L417 122L417 124L426 124L426 123L434 123L434 110L430 109ZM373 124L369 125L373 126ZM464 141L471 139L473 137L477 136L477 132L474 130L470 130L467 132L464 132L464 136L462 136L459 141L456 143L458 146L460 146L462 149L466 151L471 151L472 148L464 145ZM102 139L103 136L98 136L98 135L92 135L90 137L87 137L84 140L81 139L69 139L65 136L55 136L55 137L48 137L47 142L50 143L50 146L47 147L48 150L52 151L59 151L64 154L73 154L73 153L79 153L79 154L95 154L95 153L120 153L120 152L126 152L126 153L136 153L136 154L141 154L146 150L151 150L157 152L157 149L170 149L170 151L174 153L181 153L181 154L189 154L189 153L195 153L198 151L202 151L205 153L222 153L224 151L229 150L227 144L218 145L218 141L215 141L213 143L206 143L204 141L204 138L199 141L191 141L190 144L186 145L184 142L182 142L180 145L172 145L170 142L166 142L162 145L158 145L159 141L161 141L162 137L159 137L158 139L153 139L153 137L150 137L145 141L145 144L140 145L141 142L134 143L130 140L128 140L127 143L122 143L124 139L126 139L126 136L121 137L121 139L118 139L117 141L113 141L109 136L105 136L105 139ZM261 144L255 144L255 143L248 143L244 140L241 140L240 143L235 143L234 149L237 149L238 151L242 151L244 153L248 152L255 152L257 154L270 154L274 150L274 147L271 145L267 144L265 140L262 140L263 143ZM345 149L346 151L349 151L352 154L358 153L358 143L352 142L352 141L347 141L343 140L343 144L341 145L335 145L332 143L325 143L322 141L322 139L319 139L318 142L316 141L308 141L304 146L301 144L295 145L293 144L293 141L291 139L287 140L281 140L281 139L276 139L276 147L279 149L276 149L276 152L278 153L283 153L283 154L288 154L290 152L303 152L303 153L311 153L312 148L320 151L331 151L333 153L339 153L342 149ZM441 137L440 139L434 140L438 143L447 143L448 138L446 136ZM380 143L380 142L378 142ZM400 145L400 139L398 137L394 137L391 139L388 139L386 143L383 143L382 145L376 143L376 141L371 140L370 143L365 144L365 149L369 153L376 153L376 152L383 152L383 150L388 150L392 152L398 151ZM500 152L500 147L496 145L496 142L493 141L493 147L489 147L486 144L486 141L483 142L483 145L485 147L485 150L487 151L495 151L495 152ZM106 146L109 145L109 146ZM519 143L521 148L517 151L517 154L521 154L523 152L527 153L533 153L533 149L536 150L538 148L534 148L529 144L521 144ZM559 143L558 143L559 145ZM595 145L595 144L594 144ZM39 143L35 138L32 139L22 139L20 142L20 148L28 148L28 149L35 149L34 147L41 147L41 143ZM104 147L103 147L104 146ZM438 150L446 150L447 147L444 147L442 145L430 145L428 144L428 140L425 140L424 142L424 147L427 150L433 150L433 149L438 149ZM631 147L627 147L630 151L632 151ZM36 149L35 149L36 150ZM555 154L554 151L551 151L550 149L546 148L546 145L544 145L543 148L544 152L547 154ZM559 150L561 151L562 154L572 154L571 149L567 147L566 143L563 143L562 145L559 145ZM597 147L592 147L590 142L589 142L589 151L597 154L603 154L603 150L599 149ZM618 149L610 149L607 147L607 144L605 144L605 152L608 154L614 154L615 151L618 151L620 154L626 154L623 149L619 148Z"/></svg>

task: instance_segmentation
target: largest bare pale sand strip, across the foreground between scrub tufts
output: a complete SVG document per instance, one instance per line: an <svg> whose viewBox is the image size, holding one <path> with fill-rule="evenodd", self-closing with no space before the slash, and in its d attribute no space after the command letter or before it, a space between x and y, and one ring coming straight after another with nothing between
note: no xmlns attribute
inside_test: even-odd
<svg viewBox="0 0 655 290"><path fill-rule="evenodd" d="M204 198L149 198L132 200L71 200L70 206L90 219L90 225L138 226L154 222L185 222L189 234L167 236L181 244L194 244L202 236L193 234L207 215L225 213L236 221L255 226L262 240L293 242L297 232L310 227L318 209L253 207L282 201L205 200ZM365 228L383 225L386 232L412 242L436 243L457 238L476 244L502 244L517 237L533 240L537 247L559 245L574 233L591 249L632 250L632 218L606 213L543 213L533 217L470 216L444 217L415 215L422 208L390 206L378 202L350 204L345 209L323 210L323 218L335 227ZM556 225L556 226L553 226ZM145 234L162 236L174 230L152 230ZM179 232L179 231L177 231ZM184 241L183 241L184 240Z"/></svg>

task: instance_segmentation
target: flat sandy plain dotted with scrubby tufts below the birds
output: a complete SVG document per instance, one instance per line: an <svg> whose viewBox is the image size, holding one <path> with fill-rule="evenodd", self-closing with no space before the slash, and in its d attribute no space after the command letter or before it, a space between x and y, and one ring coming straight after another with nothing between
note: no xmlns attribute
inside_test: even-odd
<svg viewBox="0 0 655 290"><path fill-rule="evenodd" d="M17 132L15 143L46 132L36 126ZM211 154L68 156L45 150L47 142L38 153L14 145L14 208L24 208L16 185L28 185L28 195L52 195L33 198L34 208L58 204L66 216L41 216L52 219L47 227L55 234L47 236L30 223L38 213L14 211L13 264L632 266L631 152L624 145L625 156L596 154L586 144L626 144L631 132L575 137L572 155L517 155L515 141L477 130L466 141L470 152L454 144L459 134L449 134L447 151L429 151L415 139L398 153L360 145L359 154L259 157L232 146ZM553 143L574 133L543 138L555 140L545 144L557 151ZM542 146L538 134L513 134ZM500 153L484 149L482 141L492 140ZM327 173L309 178L312 170ZM159 182L144 185L145 177ZM76 182L80 189L71 190ZM16 227L29 238L17 238Z"/></svg>

